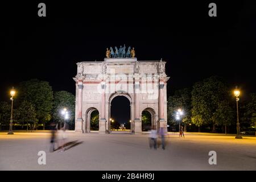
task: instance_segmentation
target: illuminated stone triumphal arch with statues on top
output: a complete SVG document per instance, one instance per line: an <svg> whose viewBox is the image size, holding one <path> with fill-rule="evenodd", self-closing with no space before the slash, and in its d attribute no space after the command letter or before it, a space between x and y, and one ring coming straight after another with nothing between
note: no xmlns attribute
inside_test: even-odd
<svg viewBox="0 0 256 182"><path fill-rule="evenodd" d="M121 50L120 50L121 49ZM99 112L99 133L111 130L110 109L117 96L130 101L131 132L142 133L142 111L151 114L151 127L167 126L166 61L138 61L134 48L106 51L104 61L77 63L75 131L90 132L90 114ZM122 105L120 105L122 109Z"/></svg>

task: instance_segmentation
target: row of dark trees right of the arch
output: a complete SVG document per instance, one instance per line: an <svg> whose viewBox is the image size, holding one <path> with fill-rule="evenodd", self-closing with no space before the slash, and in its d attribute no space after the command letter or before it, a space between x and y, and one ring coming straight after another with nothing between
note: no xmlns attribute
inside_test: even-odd
<svg viewBox="0 0 256 182"><path fill-rule="evenodd" d="M192 88L177 90L168 98L168 125L177 125L176 111L182 109L184 115L180 122L185 130L192 126L192 131L236 133L236 98L233 91L228 82L217 76L196 82ZM256 126L256 93L241 94L238 106L241 129Z"/></svg>

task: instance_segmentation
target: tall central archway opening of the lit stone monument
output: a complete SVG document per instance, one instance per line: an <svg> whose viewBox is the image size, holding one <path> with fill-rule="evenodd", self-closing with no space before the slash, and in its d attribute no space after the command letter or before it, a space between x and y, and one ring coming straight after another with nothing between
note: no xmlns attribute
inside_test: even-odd
<svg viewBox="0 0 256 182"><path fill-rule="evenodd" d="M126 93L115 93L109 100L109 131L127 131L133 128L131 97Z"/></svg>

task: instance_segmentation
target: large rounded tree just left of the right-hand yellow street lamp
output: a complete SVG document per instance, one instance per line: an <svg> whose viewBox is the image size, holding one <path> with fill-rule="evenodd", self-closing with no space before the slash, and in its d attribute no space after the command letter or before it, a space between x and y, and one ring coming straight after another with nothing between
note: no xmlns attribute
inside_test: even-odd
<svg viewBox="0 0 256 182"><path fill-rule="evenodd" d="M197 82L193 86L191 97L192 123L199 127L212 125L214 132L216 125L232 122L233 113L229 108L230 98L231 92L227 84L219 77L213 76ZM221 116L220 113L225 113L225 115Z"/></svg>

